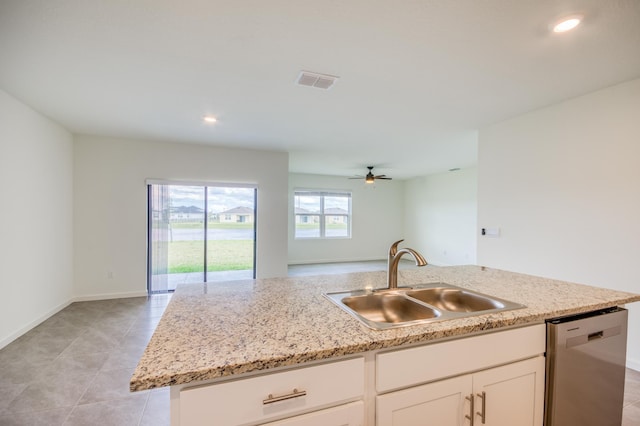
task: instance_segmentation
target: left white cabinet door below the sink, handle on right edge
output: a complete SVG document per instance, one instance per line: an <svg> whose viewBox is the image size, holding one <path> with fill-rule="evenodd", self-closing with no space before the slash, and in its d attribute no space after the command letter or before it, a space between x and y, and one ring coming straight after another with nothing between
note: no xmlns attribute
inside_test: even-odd
<svg viewBox="0 0 640 426"><path fill-rule="evenodd" d="M427 385L376 397L378 426L460 426L469 425L471 375L441 380ZM511 425L513 426L513 425Z"/></svg>

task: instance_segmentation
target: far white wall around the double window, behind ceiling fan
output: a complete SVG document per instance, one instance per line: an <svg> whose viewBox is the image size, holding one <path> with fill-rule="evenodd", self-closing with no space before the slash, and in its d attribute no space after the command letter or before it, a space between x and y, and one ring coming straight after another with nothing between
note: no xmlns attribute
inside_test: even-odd
<svg viewBox="0 0 640 426"><path fill-rule="evenodd" d="M350 239L294 239L293 192L334 189L352 193ZM386 259L389 246L404 238L404 185L391 180L367 185L363 180L310 174L289 175L289 264Z"/></svg>

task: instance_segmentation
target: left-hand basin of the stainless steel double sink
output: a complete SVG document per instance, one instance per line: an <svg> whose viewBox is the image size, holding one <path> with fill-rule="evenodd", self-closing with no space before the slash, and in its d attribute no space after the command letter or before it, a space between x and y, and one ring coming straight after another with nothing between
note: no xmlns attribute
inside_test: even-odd
<svg viewBox="0 0 640 426"><path fill-rule="evenodd" d="M342 303L360 316L377 323L397 324L440 316L440 312L433 308L392 293L349 296L343 298Z"/></svg>

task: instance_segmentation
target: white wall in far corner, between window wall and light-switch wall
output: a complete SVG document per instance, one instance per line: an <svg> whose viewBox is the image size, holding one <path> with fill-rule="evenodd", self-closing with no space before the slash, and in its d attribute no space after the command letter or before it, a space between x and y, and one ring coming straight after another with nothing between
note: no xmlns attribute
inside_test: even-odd
<svg viewBox="0 0 640 426"><path fill-rule="evenodd" d="M475 264L477 195L475 167L406 181L407 245L432 265Z"/></svg>

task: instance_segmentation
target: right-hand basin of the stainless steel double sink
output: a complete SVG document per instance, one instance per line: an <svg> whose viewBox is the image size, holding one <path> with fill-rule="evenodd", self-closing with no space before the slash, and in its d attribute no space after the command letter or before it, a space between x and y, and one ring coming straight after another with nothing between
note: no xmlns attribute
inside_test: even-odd
<svg viewBox="0 0 640 426"><path fill-rule="evenodd" d="M451 287L409 291L406 295L428 303L435 308L452 312L478 312L505 307L504 303L497 299Z"/></svg>

